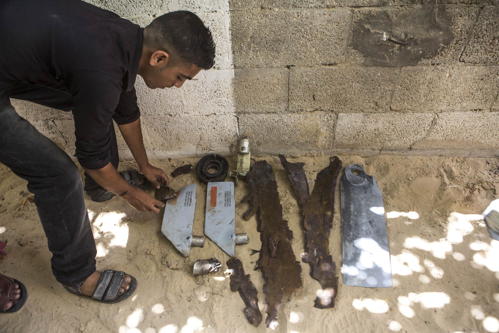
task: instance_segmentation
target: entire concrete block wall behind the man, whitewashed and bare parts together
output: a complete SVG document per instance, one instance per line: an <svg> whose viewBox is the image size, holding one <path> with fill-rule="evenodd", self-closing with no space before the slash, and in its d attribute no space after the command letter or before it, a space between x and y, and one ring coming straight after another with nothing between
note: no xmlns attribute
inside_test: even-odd
<svg viewBox="0 0 499 333"><path fill-rule="evenodd" d="M180 89L137 78L152 157L241 137L258 154L499 155L499 0L87 1L142 26L187 9L213 31L215 68ZM74 153L70 113L12 103Z"/></svg>

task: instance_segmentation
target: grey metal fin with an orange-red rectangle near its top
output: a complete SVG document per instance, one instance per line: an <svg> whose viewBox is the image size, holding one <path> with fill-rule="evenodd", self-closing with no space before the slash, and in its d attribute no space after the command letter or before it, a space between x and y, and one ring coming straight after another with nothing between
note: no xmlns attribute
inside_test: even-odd
<svg viewBox="0 0 499 333"><path fill-rule="evenodd" d="M234 183L208 183L205 235L231 257L236 255L235 221Z"/></svg>

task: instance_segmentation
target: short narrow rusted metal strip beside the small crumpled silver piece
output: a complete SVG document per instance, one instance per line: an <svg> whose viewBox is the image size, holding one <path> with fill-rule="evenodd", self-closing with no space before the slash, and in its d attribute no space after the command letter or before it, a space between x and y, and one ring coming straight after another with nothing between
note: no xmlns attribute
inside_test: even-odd
<svg viewBox="0 0 499 333"><path fill-rule="evenodd" d="M243 264L241 260L233 257L227 261L227 267L232 270L231 279L231 290L233 292L239 291L239 295L243 301L245 301L246 308L244 310L246 318L253 324L254 327L258 327L261 323L261 312L258 309L258 298L256 297L256 288L250 280L250 275L245 275L245 270L243 269Z"/></svg>

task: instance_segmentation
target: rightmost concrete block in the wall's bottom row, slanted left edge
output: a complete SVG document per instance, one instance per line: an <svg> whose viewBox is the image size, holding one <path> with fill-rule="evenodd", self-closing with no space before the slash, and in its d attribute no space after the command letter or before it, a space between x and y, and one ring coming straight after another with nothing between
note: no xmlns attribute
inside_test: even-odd
<svg viewBox="0 0 499 333"><path fill-rule="evenodd" d="M499 148L499 112L442 112L415 148Z"/></svg>

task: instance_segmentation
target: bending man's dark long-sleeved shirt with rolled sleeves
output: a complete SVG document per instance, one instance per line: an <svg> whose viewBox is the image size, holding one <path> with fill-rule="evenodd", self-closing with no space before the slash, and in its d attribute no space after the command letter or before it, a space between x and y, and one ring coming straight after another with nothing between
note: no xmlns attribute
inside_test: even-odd
<svg viewBox="0 0 499 333"><path fill-rule="evenodd" d="M75 156L100 169L112 120L140 117L142 38L139 25L81 0L0 0L0 91L15 81L62 86L74 99Z"/></svg>

